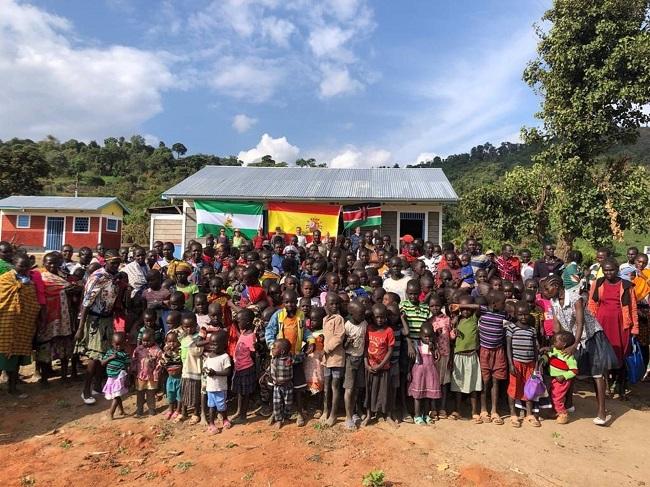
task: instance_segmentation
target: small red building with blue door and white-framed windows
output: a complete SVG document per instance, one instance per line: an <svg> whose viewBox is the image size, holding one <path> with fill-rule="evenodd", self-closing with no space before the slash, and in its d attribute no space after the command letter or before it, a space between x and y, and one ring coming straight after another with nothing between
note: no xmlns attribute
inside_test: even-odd
<svg viewBox="0 0 650 487"><path fill-rule="evenodd" d="M94 249L100 242L117 249L128 213L118 198L9 196L0 200L0 240L37 252L64 244Z"/></svg>

